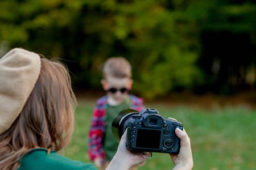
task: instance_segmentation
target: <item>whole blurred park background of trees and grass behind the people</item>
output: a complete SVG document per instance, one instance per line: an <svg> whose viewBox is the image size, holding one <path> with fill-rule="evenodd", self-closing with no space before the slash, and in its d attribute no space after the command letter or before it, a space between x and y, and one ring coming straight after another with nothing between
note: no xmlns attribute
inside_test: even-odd
<svg viewBox="0 0 256 170"><path fill-rule="evenodd" d="M1 0L0 56L21 47L67 65L79 101L71 159L89 162L102 66L122 56L131 94L183 123L194 169L256 169L255 16L255 0ZM171 167L154 153L139 169Z"/></svg>

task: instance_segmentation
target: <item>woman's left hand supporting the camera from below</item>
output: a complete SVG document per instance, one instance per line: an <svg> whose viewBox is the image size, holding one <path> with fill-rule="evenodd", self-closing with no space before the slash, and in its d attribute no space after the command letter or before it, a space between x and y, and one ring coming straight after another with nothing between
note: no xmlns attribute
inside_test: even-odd
<svg viewBox="0 0 256 170"><path fill-rule="evenodd" d="M126 148L126 135L127 130L123 133L119 143L117 153L108 165L107 169L122 169L126 170L134 165L142 164L146 161L142 152L131 152ZM147 155L146 155L147 156Z"/></svg>

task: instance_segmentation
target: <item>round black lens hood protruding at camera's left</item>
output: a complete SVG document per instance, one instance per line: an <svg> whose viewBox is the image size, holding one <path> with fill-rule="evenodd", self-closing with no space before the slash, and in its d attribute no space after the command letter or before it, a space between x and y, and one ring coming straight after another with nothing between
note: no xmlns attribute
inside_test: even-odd
<svg viewBox="0 0 256 170"><path fill-rule="evenodd" d="M114 118L112 122L112 133L117 139L117 142L120 142L120 139L123 135L123 132L125 131L126 127L123 127L126 120L128 120L133 114L138 114L138 111L135 111L133 109L125 109L118 113L117 117Z"/></svg>

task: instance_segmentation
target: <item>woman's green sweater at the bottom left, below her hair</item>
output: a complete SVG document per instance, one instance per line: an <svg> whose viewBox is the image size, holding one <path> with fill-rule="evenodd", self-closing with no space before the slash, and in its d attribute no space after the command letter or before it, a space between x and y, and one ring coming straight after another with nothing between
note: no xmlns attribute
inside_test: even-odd
<svg viewBox="0 0 256 170"><path fill-rule="evenodd" d="M28 152L21 160L19 170L66 170L66 169L86 169L97 170L93 164L85 164L80 161L65 158L51 151L47 154L47 149L36 148Z"/></svg>

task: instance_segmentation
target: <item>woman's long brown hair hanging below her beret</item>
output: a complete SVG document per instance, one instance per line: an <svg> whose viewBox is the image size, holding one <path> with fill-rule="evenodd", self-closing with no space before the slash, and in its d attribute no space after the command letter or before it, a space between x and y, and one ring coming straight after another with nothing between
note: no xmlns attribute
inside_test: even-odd
<svg viewBox="0 0 256 170"><path fill-rule="evenodd" d="M66 67L41 58L34 89L11 128L0 135L0 169L17 169L32 148L65 149L71 141L75 105Z"/></svg>

